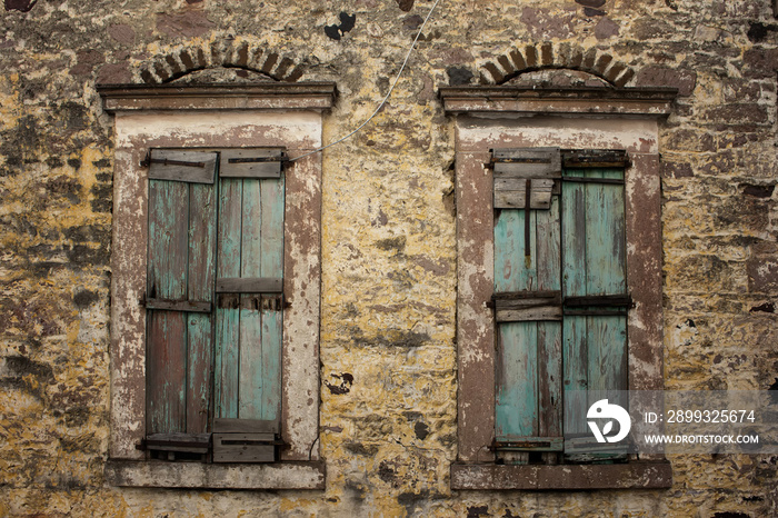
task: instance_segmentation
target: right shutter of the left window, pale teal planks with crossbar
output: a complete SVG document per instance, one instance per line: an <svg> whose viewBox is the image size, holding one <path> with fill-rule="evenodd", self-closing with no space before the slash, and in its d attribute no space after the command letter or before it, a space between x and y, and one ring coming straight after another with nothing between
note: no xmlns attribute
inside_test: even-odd
<svg viewBox="0 0 778 518"><path fill-rule="evenodd" d="M272 150L222 153L216 279L215 416L267 421L276 432L283 306L281 159ZM267 456L255 458L260 459Z"/></svg>

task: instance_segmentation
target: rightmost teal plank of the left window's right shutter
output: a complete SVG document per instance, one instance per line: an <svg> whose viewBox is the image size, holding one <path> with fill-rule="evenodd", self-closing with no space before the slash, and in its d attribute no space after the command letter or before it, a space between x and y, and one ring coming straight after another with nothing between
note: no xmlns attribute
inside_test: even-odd
<svg viewBox="0 0 778 518"><path fill-rule="evenodd" d="M283 277L285 179L262 180L262 277ZM275 299L271 299L271 301ZM278 420L281 411L281 348L283 313L273 303L262 306L262 394L260 419Z"/></svg>

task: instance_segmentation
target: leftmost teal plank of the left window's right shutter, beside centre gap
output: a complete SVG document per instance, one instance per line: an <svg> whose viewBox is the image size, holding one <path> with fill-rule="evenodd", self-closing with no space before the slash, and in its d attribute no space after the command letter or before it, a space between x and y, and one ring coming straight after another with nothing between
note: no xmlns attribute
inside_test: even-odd
<svg viewBox="0 0 778 518"><path fill-rule="evenodd" d="M219 182L217 229L217 278L240 277L242 180ZM238 418L240 375L240 308L225 303L220 296L216 310L216 418Z"/></svg>

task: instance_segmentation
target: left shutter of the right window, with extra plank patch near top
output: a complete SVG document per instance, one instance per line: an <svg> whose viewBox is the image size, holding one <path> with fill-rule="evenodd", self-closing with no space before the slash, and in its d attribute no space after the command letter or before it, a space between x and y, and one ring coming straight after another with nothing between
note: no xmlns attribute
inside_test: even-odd
<svg viewBox="0 0 778 518"><path fill-rule="evenodd" d="M562 446L560 206L553 187L561 176L559 150L499 150L493 158L497 447L558 451ZM516 189L506 189L511 181ZM512 458L527 460L526 454Z"/></svg>

